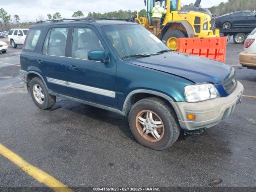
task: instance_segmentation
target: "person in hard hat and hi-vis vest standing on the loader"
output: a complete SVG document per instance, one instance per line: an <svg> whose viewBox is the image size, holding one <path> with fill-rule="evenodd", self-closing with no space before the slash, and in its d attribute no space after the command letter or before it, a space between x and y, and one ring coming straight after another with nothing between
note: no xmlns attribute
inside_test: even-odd
<svg viewBox="0 0 256 192"><path fill-rule="evenodd" d="M156 6L153 7L151 12L154 26L154 34L155 36L159 36L162 14L166 14L166 10L161 7L161 2L158 1L156 2Z"/></svg>

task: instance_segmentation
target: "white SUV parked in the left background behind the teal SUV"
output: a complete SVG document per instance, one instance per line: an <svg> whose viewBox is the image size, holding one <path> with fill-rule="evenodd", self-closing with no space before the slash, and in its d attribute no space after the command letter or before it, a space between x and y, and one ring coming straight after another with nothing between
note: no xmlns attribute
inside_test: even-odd
<svg viewBox="0 0 256 192"><path fill-rule="evenodd" d="M8 41L13 48L23 45L28 29L11 29L8 33Z"/></svg>

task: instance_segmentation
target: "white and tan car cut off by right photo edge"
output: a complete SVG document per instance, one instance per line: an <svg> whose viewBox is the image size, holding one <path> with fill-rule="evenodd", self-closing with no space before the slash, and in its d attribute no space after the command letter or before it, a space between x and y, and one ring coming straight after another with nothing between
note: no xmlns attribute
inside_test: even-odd
<svg viewBox="0 0 256 192"><path fill-rule="evenodd" d="M239 61L244 67L256 69L256 28L244 42L244 51L239 54Z"/></svg>

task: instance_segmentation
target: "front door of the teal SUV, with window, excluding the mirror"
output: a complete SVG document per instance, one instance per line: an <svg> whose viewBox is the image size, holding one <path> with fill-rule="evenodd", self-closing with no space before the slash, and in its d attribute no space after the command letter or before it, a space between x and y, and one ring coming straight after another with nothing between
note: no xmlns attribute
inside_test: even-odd
<svg viewBox="0 0 256 192"><path fill-rule="evenodd" d="M73 28L72 51L67 58L68 87L70 95L76 98L114 108L117 106L116 62L102 42L92 26ZM88 60L88 51L92 49L105 50L110 63Z"/></svg>

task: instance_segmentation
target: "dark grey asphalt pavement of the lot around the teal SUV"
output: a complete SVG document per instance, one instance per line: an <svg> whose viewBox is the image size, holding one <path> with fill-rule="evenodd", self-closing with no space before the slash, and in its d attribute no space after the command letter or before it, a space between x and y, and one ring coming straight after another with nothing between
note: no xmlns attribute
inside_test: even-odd
<svg viewBox="0 0 256 192"><path fill-rule="evenodd" d="M243 97L202 134L154 151L135 140L127 117L63 98L50 110L37 108L18 77L21 50L0 53L0 144L66 186L210 186L220 179L216 186L256 187L256 98ZM256 70L239 64L242 50L229 43L227 63L244 95L256 96ZM0 186L44 185L0 155Z"/></svg>

